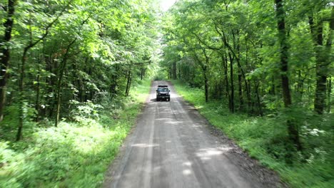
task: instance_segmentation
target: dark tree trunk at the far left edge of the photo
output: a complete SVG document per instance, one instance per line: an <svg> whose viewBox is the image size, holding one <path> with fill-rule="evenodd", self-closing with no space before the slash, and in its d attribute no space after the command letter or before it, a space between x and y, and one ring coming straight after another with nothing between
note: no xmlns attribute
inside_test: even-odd
<svg viewBox="0 0 334 188"><path fill-rule="evenodd" d="M11 31L14 25L14 12L16 0L9 0L7 5L7 17L4 22L4 38L0 41L0 122L4 118L4 106L6 103L6 78L9 61L11 58L10 43Z"/></svg>

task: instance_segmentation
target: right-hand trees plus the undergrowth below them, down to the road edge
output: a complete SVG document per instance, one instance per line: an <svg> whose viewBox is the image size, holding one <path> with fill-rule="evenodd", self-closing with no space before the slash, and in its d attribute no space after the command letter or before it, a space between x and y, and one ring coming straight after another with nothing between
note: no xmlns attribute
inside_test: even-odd
<svg viewBox="0 0 334 188"><path fill-rule="evenodd" d="M249 145L259 133L243 136L254 122L266 135L259 136L256 146L265 155L254 157L268 156L286 167L311 164L299 171L313 170L323 178L315 182L328 181L318 187L333 185L333 1L184 0L176 2L163 23L161 68L188 90L203 90L206 103L197 96L188 99L211 122L223 124L218 115L228 121L222 108L244 120L260 117L232 137L248 139ZM238 123L231 123L236 125L221 125L223 131L236 132Z"/></svg>

